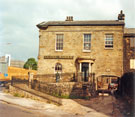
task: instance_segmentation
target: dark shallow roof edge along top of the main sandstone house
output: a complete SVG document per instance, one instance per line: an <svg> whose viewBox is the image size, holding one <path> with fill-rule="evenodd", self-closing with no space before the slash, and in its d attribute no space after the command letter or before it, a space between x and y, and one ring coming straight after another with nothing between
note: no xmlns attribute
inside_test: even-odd
<svg viewBox="0 0 135 117"><path fill-rule="evenodd" d="M46 29L48 26L124 26L119 20L94 20L94 21L48 21L37 25L38 28Z"/></svg>

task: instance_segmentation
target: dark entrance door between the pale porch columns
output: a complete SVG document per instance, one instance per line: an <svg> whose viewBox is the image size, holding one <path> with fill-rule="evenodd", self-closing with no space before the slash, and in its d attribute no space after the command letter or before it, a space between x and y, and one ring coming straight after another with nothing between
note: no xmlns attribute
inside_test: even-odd
<svg viewBox="0 0 135 117"><path fill-rule="evenodd" d="M89 77L89 63L82 63L82 78L87 82Z"/></svg>

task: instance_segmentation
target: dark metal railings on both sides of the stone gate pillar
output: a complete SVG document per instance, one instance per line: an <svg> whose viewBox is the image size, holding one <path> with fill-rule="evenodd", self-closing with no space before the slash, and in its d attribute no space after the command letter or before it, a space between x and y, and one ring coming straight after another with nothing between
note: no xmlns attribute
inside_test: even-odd
<svg viewBox="0 0 135 117"><path fill-rule="evenodd" d="M56 82L91 82L95 83L95 73L61 73L57 78L58 74L43 74L35 75L32 80L37 80L44 83L56 83ZM29 84L29 79L22 79L19 77L12 77L11 85L14 84Z"/></svg>

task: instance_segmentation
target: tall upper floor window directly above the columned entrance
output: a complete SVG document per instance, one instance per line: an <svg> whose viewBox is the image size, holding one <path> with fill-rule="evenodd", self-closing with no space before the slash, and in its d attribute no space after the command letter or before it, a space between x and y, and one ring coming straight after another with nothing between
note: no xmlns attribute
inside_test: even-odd
<svg viewBox="0 0 135 117"><path fill-rule="evenodd" d="M91 49L91 34L84 34L83 50Z"/></svg>

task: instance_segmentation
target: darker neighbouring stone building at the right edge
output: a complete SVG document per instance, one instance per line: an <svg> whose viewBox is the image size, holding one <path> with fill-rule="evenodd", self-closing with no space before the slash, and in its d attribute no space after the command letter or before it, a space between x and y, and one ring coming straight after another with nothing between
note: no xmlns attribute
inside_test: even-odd
<svg viewBox="0 0 135 117"><path fill-rule="evenodd" d="M135 28L124 29L124 73L135 72Z"/></svg>

